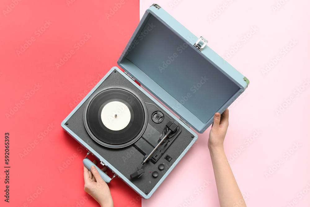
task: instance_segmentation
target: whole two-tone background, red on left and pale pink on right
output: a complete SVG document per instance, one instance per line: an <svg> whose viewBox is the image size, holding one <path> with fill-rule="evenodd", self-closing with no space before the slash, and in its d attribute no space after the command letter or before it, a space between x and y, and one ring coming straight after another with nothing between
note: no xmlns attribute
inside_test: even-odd
<svg viewBox="0 0 310 207"><path fill-rule="evenodd" d="M1 206L99 206L83 190L87 152L60 123L117 66L139 17L153 3L206 38L250 80L229 107L224 142L246 204L308 206L310 3L305 0L3 0ZM115 206L219 206L209 130L198 135L150 199L141 201L114 178L109 186ZM10 166L9 203L5 166Z"/></svg>

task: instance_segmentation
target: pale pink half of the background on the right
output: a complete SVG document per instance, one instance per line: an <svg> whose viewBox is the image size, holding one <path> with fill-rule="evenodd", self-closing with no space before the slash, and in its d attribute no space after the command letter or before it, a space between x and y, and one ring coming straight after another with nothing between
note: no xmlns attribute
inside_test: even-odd
<svg viewBox="0 0 310 207"><path fill-rule="evenodd" d="M285 3L274 12L272 7L277 2ZM140 1L140 18L152 3ZM309 206L310 191L306 188L310 190L310 83L307 83L310 2L157 0L156 3L197 37L206 38L208 46L222 57L241 44L227 61L250 80L250 85L229 107L230 125L224 146L228 159L232 156L230 165L247 206L285 207L288 203ZM224 10L217 11L224 3ZM210 21L213 12L219 15ZM252 27L257 31L248 34ZM241 40L247 34L249 38ZM281 50L291 40L296 43L283 56ZM266 64L277 56L279 61L263 74ZM303 88L303 84L308 87ZM301 93L296 91L300 87ZM285 100L290 97L293 100L286 105ZM286 108L277 114L283 104ZM158 207L163 200L166 206L219 206L207 148L209 130L198 134L196 145L153 196L142 200L142 206ZM251 143L247 139L252 139ZM300 146L294 147L294 143ZM283 161L279 166L280 159ZM276 171L266 177L272 167ZM210 184L207 186L205 181ZM199 192L197 188L202 190ZM299 194L303 190L306 194ZM191 196L193 201L188 204Z"/></svg>

